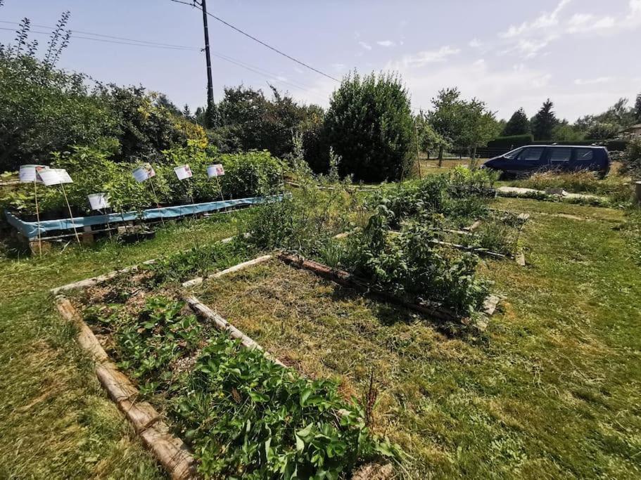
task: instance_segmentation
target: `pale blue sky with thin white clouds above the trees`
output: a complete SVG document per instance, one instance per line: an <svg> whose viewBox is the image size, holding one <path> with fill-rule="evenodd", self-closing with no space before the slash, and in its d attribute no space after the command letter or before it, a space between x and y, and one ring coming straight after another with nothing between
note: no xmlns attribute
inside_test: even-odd
<svg viewBox="0 0 641 480"><path fill-rule="evenodd" d="M398 72L417 110L429 109L439 89L457 86L499 118L521 107L534 115L549 97L557 116L572 122L641 93L641 0L209 0L208 10L337 79L353 70ZM34 32L49 32L63 11L71 12L75 37L59 67L142 84L192 110L205 104L196 8L170 0L4 0L0 29L27 17L42 25ZM273 84L301 102L329 105L338 82L213 18L209 26L216 100L224 86L269 91ZM187 48L114 44L90 34ZM4 44L14 37L0 30ZM44 54L47 35L31 38Z"/></svg>

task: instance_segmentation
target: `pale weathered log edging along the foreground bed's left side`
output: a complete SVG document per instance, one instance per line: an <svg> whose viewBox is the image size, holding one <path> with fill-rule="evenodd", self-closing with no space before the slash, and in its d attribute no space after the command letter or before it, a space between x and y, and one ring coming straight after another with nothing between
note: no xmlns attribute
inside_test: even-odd
<svg viewBox="0 0 641 480"><path fill-rule="evenodd" d="M160 413L151 403L137 401L138 389L109 360L94 332L91 332L87 323L80 318L69 299L59 295L56 297L56 306L65 320L75 323L80 328L78 342L96 363L96 377L99 382L172 479L198 478L196 460L189 447L182 439L170 433L167 425L160 420Z"/></svg>

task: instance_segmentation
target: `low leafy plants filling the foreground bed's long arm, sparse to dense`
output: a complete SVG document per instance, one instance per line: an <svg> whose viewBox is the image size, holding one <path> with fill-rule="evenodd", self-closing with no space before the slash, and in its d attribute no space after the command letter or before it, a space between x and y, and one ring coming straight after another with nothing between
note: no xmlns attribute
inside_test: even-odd
<svg viewBox="0 0 641 480"><path fill-rule="evenodd" d="M202 474L338 479L362 462L400 457L398 446L369 432L363 408L344 401L335 382L299 377L182 309L152 297L138 316L91 310L86 318L108 316L101 323L113 329L120 366L141 393L166 399Z"/></svg>

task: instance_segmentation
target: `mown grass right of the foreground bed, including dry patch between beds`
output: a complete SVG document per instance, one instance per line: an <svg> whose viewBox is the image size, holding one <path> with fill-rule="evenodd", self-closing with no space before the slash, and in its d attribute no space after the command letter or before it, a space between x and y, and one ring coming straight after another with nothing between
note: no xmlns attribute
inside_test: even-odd
<svg viewBox="0 0 641 480"><path fill-rule="evenodd" d="M407 477L634 478L641 279L612 227L535 216L523 235L531 266L488 264L507 300L478 342L284 266L200 294L286 363L337 377L346 396L361 396L373 370L375 426L412 457Z"/></svg>

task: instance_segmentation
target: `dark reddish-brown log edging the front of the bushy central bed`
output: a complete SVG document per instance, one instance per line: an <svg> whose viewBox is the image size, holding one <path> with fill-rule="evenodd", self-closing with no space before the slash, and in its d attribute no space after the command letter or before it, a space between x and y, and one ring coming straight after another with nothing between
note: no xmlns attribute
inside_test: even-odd
<svg viewBox="0 0 641 480"><path fill-rule="evenodd" d="M284 261L284 263L288 265L312 271L322 278L326 278L327 280L331 280L334 283L338 283L338 285L343 285L343 287L353 288L355 290L359 290L360 292L371 294L374 297L379 297L385 301L404 306L407 309L411 309L419 313L425 313L426 315L433 316L435 318L438 318L439 320L461 320L461 318L457 317L455 313L449 309L444 309L443 307L436 305L432 306L428 304L414 304L409 301L405 301L393 294L384 292L383 290L378 290L376 289L376 287L372 287L372 285L369 285L369 283L367 283L365 280L357 278L346 271L334 270L333 268L329 268L329 266L319 264L316 261L305 260L302 257L286 254L284 252L279 254L278 257L281 261Z"/></svg>

